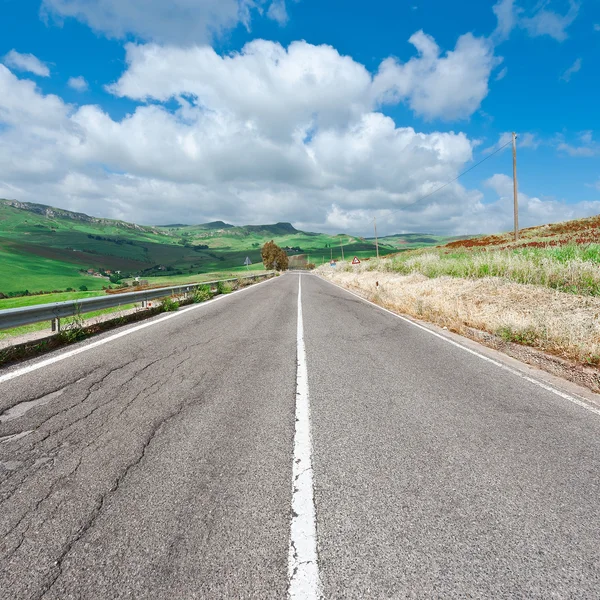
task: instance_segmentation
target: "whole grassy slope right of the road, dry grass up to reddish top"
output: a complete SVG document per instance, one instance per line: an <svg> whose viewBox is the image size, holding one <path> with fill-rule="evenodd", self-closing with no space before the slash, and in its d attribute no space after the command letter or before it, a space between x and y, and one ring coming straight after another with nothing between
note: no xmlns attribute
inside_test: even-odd
<svg viewBox="0 0 600 600"><path fill-rule="evenodd" d="M600 365L600 216L525 229L518 241L479 236L322 271L459 333Z"/></svg>

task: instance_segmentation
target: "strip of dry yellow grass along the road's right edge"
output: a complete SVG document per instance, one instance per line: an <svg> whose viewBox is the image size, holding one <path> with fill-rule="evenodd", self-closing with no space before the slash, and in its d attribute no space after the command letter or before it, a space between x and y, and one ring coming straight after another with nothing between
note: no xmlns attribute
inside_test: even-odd
<svg viewBox="0 0 600 600"><path fill-rule="evenodd" d="M430 279L418 273L367 271L364 264L351 272L328 267L317 272L388 308L458 333L471 327L581 363L600 362L597 297L497 277Z"/></svg>

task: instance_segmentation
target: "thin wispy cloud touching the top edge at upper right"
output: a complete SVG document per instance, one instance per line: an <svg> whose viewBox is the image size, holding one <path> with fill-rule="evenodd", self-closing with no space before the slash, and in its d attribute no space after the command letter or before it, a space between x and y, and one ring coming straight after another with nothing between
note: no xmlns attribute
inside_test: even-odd
<svg viewBox="0 0 600 600"><path fill-rule="evenodd" d="M550 0L538 2L529 16L519 7L515 0L498 0L493 11L498 20L498 25L492 34L492 40L502 42L510 36L516 27L525 29L531 37L548 35L559 42L567 39L567 28L575 21L579 14L580 3L569 0L569 8L565 14L560 14L547 7Z"/></svg>

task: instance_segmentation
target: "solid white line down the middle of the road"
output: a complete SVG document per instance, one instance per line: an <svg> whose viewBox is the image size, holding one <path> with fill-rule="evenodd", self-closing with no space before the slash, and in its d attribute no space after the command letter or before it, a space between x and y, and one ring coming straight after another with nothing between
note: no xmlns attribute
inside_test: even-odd
<svg viewBox="0 0 600 600"><path fill-rule="evenodd" d="M296 374L296 434L292 482L292 523L288 554L288 596L294 600L321 598L317 557L317 525L313 493L312 440L308 368L302 322L302 275L298 276L298 370Z"/></svg>

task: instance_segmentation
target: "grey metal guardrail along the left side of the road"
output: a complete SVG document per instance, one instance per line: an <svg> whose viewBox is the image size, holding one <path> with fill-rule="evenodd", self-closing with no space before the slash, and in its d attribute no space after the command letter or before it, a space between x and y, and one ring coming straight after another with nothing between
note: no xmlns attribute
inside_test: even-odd
<svg viewBox="0 0 600 600"><path fill-rule="evenodd" d="M7 308L0 310L0 331L3 329L12 329L22 325L31 325L41 321L52 321L73 317L75 315L103 310L105 308L115 308L125 304L137 304L138 302L148 302L157 298L167 296L189 294L202 285L216 285L219 282L230 283L240 279L262 279L270 277L273 273L260 273L259 275L245 275L235 279L219 279L215 281L203 281L201 283L190 283L188 285L176 285L164 288L155 288L142 290L140 292L126 292L123 294L112 294L98 296L97 298L84 298L82 300L67 300L65 302L51 302L48 304L36 304L34 306L23 306L19 308Z"/></svg>

